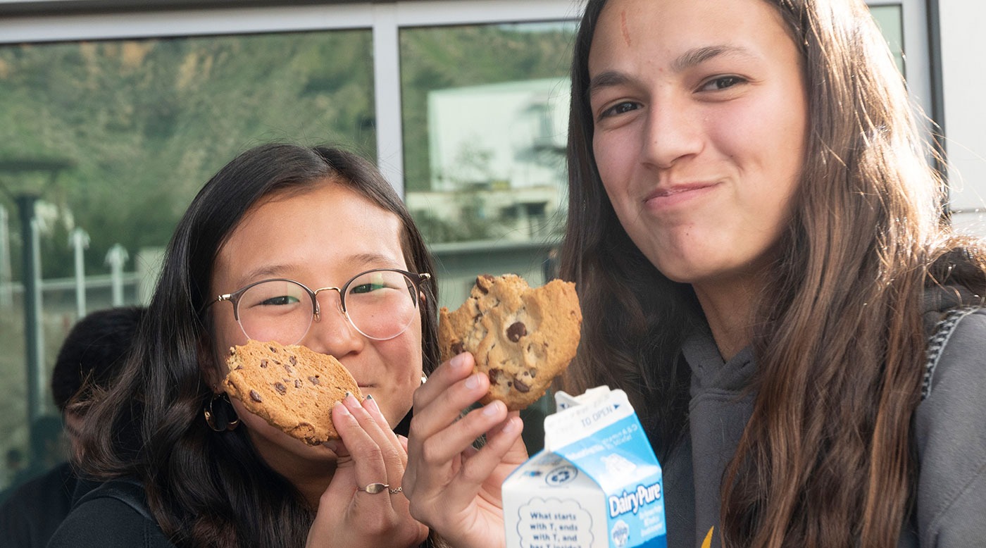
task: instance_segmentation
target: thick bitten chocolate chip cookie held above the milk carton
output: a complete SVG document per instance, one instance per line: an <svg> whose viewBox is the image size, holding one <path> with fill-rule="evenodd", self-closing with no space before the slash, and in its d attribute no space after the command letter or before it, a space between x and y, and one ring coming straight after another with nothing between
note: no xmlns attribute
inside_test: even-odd
<svg viewBox="0 0 986 548"><path fill-rule="evenodd" d="M489 376L480 401L499 399L515 411L537 401L565 371L581 326L575 284L552 280L531 289L514 274L484 274L461 307L439 311L438 334L443 361L467 350L475 371Z"/></svg>

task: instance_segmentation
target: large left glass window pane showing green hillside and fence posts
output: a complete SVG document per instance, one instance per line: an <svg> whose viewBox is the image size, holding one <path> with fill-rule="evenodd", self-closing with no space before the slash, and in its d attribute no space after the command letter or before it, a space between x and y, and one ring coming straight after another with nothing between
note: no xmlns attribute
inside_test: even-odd
<svg viewBox="0 0 986 548"><path fill-rule="evenodd" d="M13 198L38 195L35 414L56 414L51 366L80 313L75 245L85 244L85 309L142 302L178 217L214 171L279 139L373 159L373 104L368 30L0 47L0 453L11 456L0 488L41 457L28 448L25 244ZM76 229L86 235L73 245Z"/></svg>

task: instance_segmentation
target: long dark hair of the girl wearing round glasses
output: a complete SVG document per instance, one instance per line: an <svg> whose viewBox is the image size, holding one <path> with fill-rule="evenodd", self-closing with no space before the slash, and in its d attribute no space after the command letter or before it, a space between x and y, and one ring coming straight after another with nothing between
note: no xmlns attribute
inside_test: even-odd
<svg viewBox="0 0 986 548"><path fill-rule="evenodd" d="M256 147L217 172L192 200L168 245L161 278L119 381L87 414L86 472L135 476L162 530L178 546L303 546L314 510L253 450L246 429L212 432L202 409L212 391L200 356L212 352L199 311L216 254L246 211L278 192L343 184L396 215L407 268L432 272L424 240L400 198L368 162L326 148ZM439 360L437 291L422 287L423 367Z"/></svg>

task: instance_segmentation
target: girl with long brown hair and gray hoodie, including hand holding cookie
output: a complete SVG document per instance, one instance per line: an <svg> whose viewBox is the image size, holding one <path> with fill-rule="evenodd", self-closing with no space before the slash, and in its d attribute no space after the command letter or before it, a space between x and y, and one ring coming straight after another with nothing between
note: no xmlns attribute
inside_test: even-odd
<svg viewBox="0 0 986 548"><path fill-rule="evenodd" d="M562 385L630 395L669 546L986 538L986 311L967 308L986 255L943 222L919 135L860 0L588 3L562 253L585 322ZM467 378L418 390L405 485L412 514L489 545L470 530L499 518L516 436L423 448L494 427L449 420L481 394Z"/></svg>

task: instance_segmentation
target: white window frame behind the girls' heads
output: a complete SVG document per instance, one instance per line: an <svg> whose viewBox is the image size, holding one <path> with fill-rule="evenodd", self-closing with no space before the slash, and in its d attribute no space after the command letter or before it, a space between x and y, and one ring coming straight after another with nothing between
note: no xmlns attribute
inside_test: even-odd
<svg viewBox="0 0 986 548"><path fill-rule="evenodd" d="M900 5L905 69L916 104L933 112L927 6L923 0L869 0L870 6ZM75 6L77 13L0 18L0 44L165 36L285 33L370 29L373 33L377 162L387 181L404 195L400 99L401 29L543 21L574 21L584 0L397 0L317 6L136 11L128 2L94 5L77 0L0 0L6 11ZM81 8L79 6L82 6ZM88 9L93 10L87 13ZM95 11L99 7L103 12ZM106 8L120 11L105 13ZM127 11L130 10L130 11Z"/></svg>

